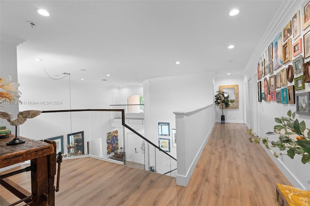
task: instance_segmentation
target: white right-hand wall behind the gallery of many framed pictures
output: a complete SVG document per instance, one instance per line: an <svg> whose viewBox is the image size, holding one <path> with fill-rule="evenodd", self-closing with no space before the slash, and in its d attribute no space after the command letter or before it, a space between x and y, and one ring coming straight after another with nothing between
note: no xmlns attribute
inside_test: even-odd
<svg viewBox="0 0 310 206"><path fill-rule="evenodd" d="M304 1L285 1L281 8L279 8L278 13L276 14L275 19L270 20L269 29L264 34L261 40L261 44L258 45L256 48L256 51L252 55L251 59L248 62L247 67L245 68L245 78L244 82L247 84L246 86L246 93L255 93L255 104L256 107L253 111L251 111L251 116L257 117L257 125L253 128L253 131L258 134L261 137L265 137L266 132L272 132L274 125L277 123L274 121L274 118L276 117L286 117L287 111L292 110L293 112L296 111L296 105L295 104L281 104L276 103L275 101L271 102L258 102L257 99L257 64L258 59L265 53L265 50L268 48L269 44L272 43L272 41L276 38L276 35L281 32L281 30L287 25L287 23L292 19L294 14L297 10L300 10L300 15L302 15L302 3ZM310 29L307 28L306 30L301 29L301 35L297 38L303 38L303 35L308 32ZM291 37L290 37L291 38ZM292 44L294 44L295 40L292 39ZM302 53L303 54L303 53ZM299 56L299 55L298 55ZM297 56L297 57L298 57ZM293 58L294 59L294 58ZM309 61L310 59L305 59L306 61ZM268 60L266 60L268 62ZM284 67L287 67L289 64L292 64L292 62L288 62L276 71L274 71L274 74L280 72L280 70ZM254 80L253 74L256 77ZM299 76L301 74L296 74L294 77ZM270 74L267 75L267 77L270 76ZM248 85L248 80L252 79L253 85ZM288 86L293 85L294 82L288 83ZM253 89L253 86L255 87L255 90ZM282 87L283 88L283 87ZM251 90L253 89L253 90ZM279 90L279 89L277 89ZM310 85L309 83L306 83L306 88L302 90L297 90L296 93L299 92L306 92L310 91ZM248 99L246 99L248 100ZM249 103L248 103L249 104ZM306 126L310 127L310 116L305 115L296 115L296 118L298 118L299 121L304 120L306 122ZM247 120L247 124L248 120ZM277 136L266 136L269 138L269 140L276 140ZM262 147L264 147L262 145ZM265 147L264 147L265 148ZM280 170L284 173L284 175L290 180L290 182L295 186L299 188L304 188L307 190L310 190L310 164L307 163L306 165L303 164L300 161L300 157L298 155L295 155L294 159L290 159L289 157L283 155L280 158L275 158L273 156L273 151L279 152L277 148L272 148L271 150L266 149L267 154L274 160L274 162L278 165Z"/></svg>

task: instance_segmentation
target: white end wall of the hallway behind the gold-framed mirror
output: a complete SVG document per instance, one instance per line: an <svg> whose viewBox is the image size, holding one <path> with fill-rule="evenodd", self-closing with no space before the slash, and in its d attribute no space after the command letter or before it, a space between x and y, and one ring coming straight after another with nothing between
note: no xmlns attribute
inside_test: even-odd
<svg viewBox="0 0 310 206"><path fill-rule="evenodd" d="M225 109L224 108L224 115L225 115L225 122L227 123L244 123L244 84L243 78L240 76L221 76L216 77L215 79L215 91L218 91L219 86L225 85L238 85L239 87L239 109ZM219 106L216 107L216 122L221 122L221 115L222 110Z"/></svg>

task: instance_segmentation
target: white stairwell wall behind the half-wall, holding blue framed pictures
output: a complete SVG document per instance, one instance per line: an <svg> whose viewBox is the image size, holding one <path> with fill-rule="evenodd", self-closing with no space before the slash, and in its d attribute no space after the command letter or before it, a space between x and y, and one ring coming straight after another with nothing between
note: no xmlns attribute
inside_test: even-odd
<svg viewBox="0 0 310 206"><path fill-rule="evenodd" d="M166 78L149 79L143 82L145 137L158 145L158 138L170 136L158 135L158 122L170 123L175 129L174 111L200 108L213 103L213 74L190 74ZM213 116L213 114L210 114ZM170 147L171 156L176 157L176 147ZM192 151L195 153L195 151ZM177 159L177 157L176 157ZM151 165L155 163L150 160ZM167 172L155 168L157 172Z"/></svg>

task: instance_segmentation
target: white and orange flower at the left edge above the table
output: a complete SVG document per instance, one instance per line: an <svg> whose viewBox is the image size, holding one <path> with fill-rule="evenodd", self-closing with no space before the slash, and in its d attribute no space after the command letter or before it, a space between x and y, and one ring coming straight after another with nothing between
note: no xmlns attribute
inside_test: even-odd
<svg viewBox="0 0 310 206"><path fill-rule="evenodd" d="M18 91L19 84L12 82L12 78L0 77L0 103L18 101L21 92Z"/></svg>

